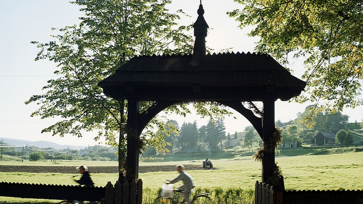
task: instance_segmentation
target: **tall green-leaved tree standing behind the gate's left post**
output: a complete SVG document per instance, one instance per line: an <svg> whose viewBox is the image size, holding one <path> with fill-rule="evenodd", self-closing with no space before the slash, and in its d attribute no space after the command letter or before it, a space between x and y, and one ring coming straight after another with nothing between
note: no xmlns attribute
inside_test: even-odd
<svg viewBox="0 0 363 204"><path fill-rule="evenodd" d="M82 131L98 132L95 140L105 137L107 145L118 147L121 170L126 158L127 100L116 101L105 96L97 84L135 55L191 53L193 38L185 31L192 26L176 23L183 12L170 13L166 8L170 0L76 0L71 3L79 5L84 12L79 18L81 23L53 28L54 41L32 42L40 48L36 61L48 59L56 63L58 69L54 74L58 78L48 81L43 87L45 93L33 95L25 103L40 105L31 116L60 118L42 132L61 137L65 134L82 137ZM143 101L140 112L152 105L154 101ZM200 102L193 106L202 116L227 113L217 103ZM172 105L164 111L184 116L190 113L187 103ZM162 134L156 135L152 128L162 128L164 124L162 119L153 118L141 140L162 150L166 145L160 139Z"/></svg>

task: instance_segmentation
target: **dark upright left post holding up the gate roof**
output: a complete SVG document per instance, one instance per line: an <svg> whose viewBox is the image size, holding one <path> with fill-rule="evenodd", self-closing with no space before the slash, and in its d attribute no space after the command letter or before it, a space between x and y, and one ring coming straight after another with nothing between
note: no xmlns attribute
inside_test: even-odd
<svg viewBox="0 0 363 204"><path fill-rule="evenodd" d="M140 101L135 99L128 100L127 125L130 131L127 133L127 166L131 169L129 172L132 177L139 177L139 115Z"/></svg>

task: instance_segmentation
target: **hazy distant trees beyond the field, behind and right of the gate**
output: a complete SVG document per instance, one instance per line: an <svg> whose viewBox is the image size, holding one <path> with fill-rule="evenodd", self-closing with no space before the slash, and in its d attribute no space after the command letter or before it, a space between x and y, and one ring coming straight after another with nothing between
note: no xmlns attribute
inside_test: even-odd
<svg viewBox="0 0 363 204"><path fill-rule="evenodd" d="M315 125L306 127L301 121L309 116L309 108L306 107L304 112L300 112L295 120L289 122L281 122L278 120L275 124L280 128L283 136L283 144L294 144L298 147L302 143L311 144L313 137L318 132L327 132L336 134L336 143L341 145L363 145L363 137L358 135L354 141L354 135L351 130L363 128L363 123L349 123L348 115L342 115L341 112L329 113L318 112L315 120ZM198 128L196 121L193 123L184 122L181 127L177 121L170 120L166 124L166 129L179 130L177 133L164 134L164 141L167 143L167 154L195 152L203 153L211 151L216 153L225 149L247 148L254 151L262 146L262 140L253 126L247 126L242 132L235 132L231 136L226 135L223 120L208 121L207 125ZM159 130L161 131L161 130ZM172 132L172 131L170 131ZM357 137L357 135L356 135ZM362 140L361 142L357 142ZM295 146L296 144L296 146ZM241 149L240 149L241 150ZM147 148L144 155L155 155L156 150L153 147Z"/></svg>

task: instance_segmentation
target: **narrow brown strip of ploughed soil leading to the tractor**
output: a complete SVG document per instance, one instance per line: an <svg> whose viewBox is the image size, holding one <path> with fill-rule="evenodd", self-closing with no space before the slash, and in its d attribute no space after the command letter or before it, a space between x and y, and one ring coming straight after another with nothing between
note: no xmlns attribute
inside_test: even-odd
<svg viewBox="0 0 363 204"><path fill-rule="evenodd" d="M186 171L203 170L200 165L184 165ZM89 172L117 174L117 166L90 166ZM213 168L214 169L214 168ZM162 166L139 166L139 173L157 172L157 171L175 171L175 165ZM29 173L62 173L77 174L75 166L4 166L0 165L0 172L29 172Z"/></svg>

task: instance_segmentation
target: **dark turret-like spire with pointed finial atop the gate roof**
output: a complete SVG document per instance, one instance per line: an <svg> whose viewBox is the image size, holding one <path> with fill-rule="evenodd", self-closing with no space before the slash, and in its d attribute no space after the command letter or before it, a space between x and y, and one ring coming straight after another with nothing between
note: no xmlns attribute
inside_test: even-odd
<svg viewBox="0 0 363 204"><path fill-rule="evenodd" d="M197 13L199 14L199 16L193 25L195 43L191 63L194 65L202 63L204 61L204 57L206 54L205 37L207 37L209 28L207 22L205 22L204 20L204 9L201 0Z"/></svg>

